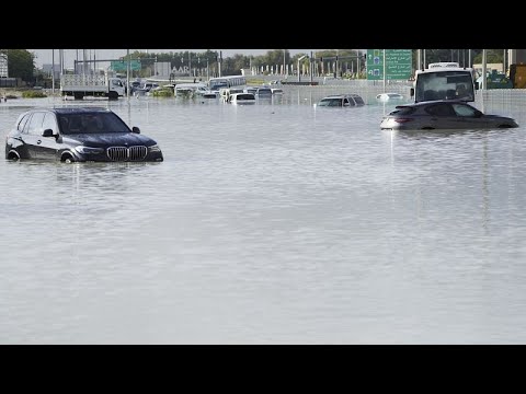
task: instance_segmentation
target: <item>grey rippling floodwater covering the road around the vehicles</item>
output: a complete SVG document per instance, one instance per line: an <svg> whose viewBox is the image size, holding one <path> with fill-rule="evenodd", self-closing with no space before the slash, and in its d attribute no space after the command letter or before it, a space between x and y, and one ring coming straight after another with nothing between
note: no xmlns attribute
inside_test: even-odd
<svg viewBox="0 0 526 394"><path fill-rule="evenodd" d="M61 104L2 102L2 141ZM0 160L1 344L526 343L521 106L516 129L402 134L390 104L293 91L82 104L165 160Z"/></svg>

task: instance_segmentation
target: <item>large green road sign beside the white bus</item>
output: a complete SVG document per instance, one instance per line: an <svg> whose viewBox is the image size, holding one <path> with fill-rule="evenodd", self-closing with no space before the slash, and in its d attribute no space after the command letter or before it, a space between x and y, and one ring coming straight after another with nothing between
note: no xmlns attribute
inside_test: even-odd
<svg viewBox="0 0 526 394"><path fill-rule="evenodd" d="M386 49L386 80L408 80L413 71L411 49ZM367 49L367 79L384 80L384 49Z"/></svg>

